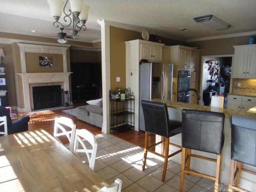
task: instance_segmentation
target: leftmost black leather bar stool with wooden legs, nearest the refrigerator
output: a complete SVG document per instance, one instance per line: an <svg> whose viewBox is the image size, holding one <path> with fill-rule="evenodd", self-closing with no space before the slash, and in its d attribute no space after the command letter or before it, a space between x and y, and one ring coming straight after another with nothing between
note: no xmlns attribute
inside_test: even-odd
<svg viewBox="0 0 256 192"><path fill-rule="evenodd" d="M144 120L145 120L145 148L142 171L145 170L146 159L148 152L152 152L162 158L164 158L164 168L162 173L162 181L164 182L166 169L168 164L168 158L181 152L181 149L169 155L169 144L181 148L181 146L170 143L169 138L181 133L182 123L178 121L169 120L168 110L166 104L158 102L141 101ZM162 136L160 142L152 146L148 146L148 133L153 133ZM151 150L155 146L164 143L164 155Z"/></svg>

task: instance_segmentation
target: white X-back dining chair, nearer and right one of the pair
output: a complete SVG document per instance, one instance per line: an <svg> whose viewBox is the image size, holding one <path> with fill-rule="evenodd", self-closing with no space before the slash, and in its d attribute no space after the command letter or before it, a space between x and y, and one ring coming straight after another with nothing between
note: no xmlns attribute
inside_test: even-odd
<svg viewBox="0 0 256 192"><path fill-rule="evenodd" d="M92 146L92 149L88 149L86 145L84 144L84 140L88 141L90 145ZM79 143L82 146L82 149L78 148ZM78 129L76 130L75 134L75 142L74 142L74 154L77 153L86 153L86 156L89 161L89 167L94 170L94 164L95 164L95 158L96 158L96 152L97 152L97 142L96 137L92 132L86 130L86 129Z"/></svg>

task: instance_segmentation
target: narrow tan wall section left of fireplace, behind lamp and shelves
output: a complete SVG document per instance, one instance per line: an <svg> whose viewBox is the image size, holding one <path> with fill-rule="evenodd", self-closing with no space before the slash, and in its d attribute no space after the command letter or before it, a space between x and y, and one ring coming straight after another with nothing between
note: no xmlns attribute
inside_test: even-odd
<svg viewBox="0 0 256 192"><path fill-rule="evenodd" d="M6 65L6 84L10 106L16 106L16 90L14 84L14 62L12 58L12 46L10 44L0 44L4 50L3 64ZM2 62L0 62L2 64Z"/></svg>

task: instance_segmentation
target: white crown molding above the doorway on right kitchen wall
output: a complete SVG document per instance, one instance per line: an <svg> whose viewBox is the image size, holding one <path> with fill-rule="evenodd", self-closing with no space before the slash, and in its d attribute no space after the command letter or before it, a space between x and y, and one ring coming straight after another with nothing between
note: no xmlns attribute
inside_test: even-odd
<svg viewBox="0 0 256 192"><path fill-rule="evenodd" d="M226 35L216 35L216 36L209 36L209 37L202 37L202 38L194 38L194 39L188 39L187 42L205 41L205 40L212 40L212 39L232 38L232 37L241 37L241 36L248 36L248 35L256 35L256 31L249 31L249 32L242 32L242 33L232 33L232 34L226 34Z"/></svg>

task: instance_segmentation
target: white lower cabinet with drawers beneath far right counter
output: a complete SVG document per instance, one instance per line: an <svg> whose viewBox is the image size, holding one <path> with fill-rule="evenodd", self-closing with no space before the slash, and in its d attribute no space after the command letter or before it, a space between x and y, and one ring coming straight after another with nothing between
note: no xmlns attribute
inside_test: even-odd
<svg viewBox="0 0 256 192"><path fill-rule="evenodd" d="M228 109L238 110L238 111L248 111L250 108L256 106L256 98L248 96L228 96Z"/></svg>

